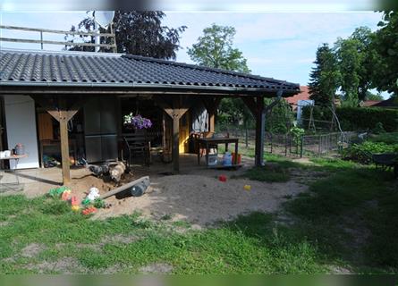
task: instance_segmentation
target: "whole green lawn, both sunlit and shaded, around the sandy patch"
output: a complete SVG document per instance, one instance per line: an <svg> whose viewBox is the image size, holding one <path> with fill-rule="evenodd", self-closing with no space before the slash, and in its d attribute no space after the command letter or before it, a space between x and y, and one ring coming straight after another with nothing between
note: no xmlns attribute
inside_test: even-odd
<svg viewBox="0 0 398 286"><path fill-rule="evenodd" d="M168 216L94 221L53 198L0 197L0 273L397 272L398 186L391 172L331 159L269 161L287 175L328 173L287 200L284 220L252 213L197 231Z"/></svg>

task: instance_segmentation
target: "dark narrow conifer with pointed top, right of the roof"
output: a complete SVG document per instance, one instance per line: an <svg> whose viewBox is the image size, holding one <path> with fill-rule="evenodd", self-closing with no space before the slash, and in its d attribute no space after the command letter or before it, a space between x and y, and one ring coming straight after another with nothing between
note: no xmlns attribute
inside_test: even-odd
<svg viewBox="0 0 398 286"><path fill-rule="evenodd" d="M335 92L339 87L340 72L333 50L323 44L318 47L316 67L309 75L309 98L316 105L331 106Z"/></svg>

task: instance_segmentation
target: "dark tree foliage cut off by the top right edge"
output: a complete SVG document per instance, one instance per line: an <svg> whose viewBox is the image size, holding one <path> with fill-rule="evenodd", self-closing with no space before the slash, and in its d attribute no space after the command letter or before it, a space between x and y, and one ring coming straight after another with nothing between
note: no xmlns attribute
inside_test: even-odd
<svg viewBox="0 0 398 286"><path fill-rule="evenodd" d="M381 56L374 76L374 87L398 95L398 12L385 11L378 23L374 47Z"/></svg>

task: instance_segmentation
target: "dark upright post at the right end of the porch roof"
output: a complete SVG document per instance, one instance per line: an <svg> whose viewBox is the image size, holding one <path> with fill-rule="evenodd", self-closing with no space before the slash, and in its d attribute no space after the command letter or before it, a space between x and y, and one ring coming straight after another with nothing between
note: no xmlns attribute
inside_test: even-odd
<svg viewBox="0 0 398 286"><path fill-rule="evenodd" d="M266 113L264 110L263 97L257 97L256 100L256 146L255 146L255 165L264 165L264 135L265 135L265 121Z"/></svg>

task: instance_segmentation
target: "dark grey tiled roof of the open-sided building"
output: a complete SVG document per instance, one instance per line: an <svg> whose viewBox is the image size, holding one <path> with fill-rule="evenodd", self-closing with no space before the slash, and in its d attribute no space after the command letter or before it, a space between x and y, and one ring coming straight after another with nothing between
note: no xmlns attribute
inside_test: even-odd
<svg viewBox="0 0 398 286"><path fill-rule="evenodd" d="M298 84L137 55L0 50L0 82L300 91Z"/></svg>

